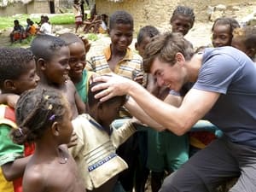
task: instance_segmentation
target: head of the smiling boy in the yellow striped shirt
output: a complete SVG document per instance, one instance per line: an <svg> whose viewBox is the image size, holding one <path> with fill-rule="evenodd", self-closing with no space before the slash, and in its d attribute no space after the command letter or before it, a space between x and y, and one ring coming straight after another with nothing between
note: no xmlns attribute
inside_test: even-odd
<svg viewBox="0 0 256 192"><path fill-rule="evenodd" d="M109 19L109 35L113 49L126 51L133 35L133 18L125 11L116 11Z"/></svg>

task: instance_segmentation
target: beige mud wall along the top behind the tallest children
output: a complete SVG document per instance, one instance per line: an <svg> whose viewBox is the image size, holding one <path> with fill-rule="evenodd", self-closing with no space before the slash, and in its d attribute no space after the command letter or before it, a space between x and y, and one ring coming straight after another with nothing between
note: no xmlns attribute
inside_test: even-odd
<svg viewBox="0 0 256 192"><path fill-rule="evenodd" d="M253 2L256 3L256 0ZM97 14L111 15L115 10L124 9L133 15L135 30L141 26L153 25L163 28L168 26L172 11L179 5L186 5L194 8L195 20L208 20L208 6L218 4L230 5L241 3L241 0L124 0L119 3L107 0L96 0ZM167 28L166 28L167 30Z"/></svg>

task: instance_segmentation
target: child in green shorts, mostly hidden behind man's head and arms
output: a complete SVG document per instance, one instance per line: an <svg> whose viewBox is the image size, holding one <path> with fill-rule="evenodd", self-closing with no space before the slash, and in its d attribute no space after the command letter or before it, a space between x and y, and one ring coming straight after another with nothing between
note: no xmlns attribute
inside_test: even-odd
<svg viewBox="0 0 256 192"><path fill-rule="evenodd" d="M136 44L140 55L144 54L147 44L158 34L160 32L154 26L144 26L140 29ZM168 87L160 87L152 75L148 75L147 89L161 100L165 100L170 92ZM159 191L165 172L170 174L176 171L188 159L189 140L187 135L178 137L170 131L159 132L148 129L147 166L151 170L150 183L153 192Z"/></svg>

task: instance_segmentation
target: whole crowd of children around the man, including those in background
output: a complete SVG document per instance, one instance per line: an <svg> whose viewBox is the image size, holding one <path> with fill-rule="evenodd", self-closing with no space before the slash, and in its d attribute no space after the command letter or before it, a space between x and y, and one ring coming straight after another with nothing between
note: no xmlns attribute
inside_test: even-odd
<svg viewBox="0 0 256 192"><path fill-rule="evenodd" d="M30 49L0 48L0 191L144 192L150 175L151 189L157 192L166 175L222 132L199 121L188 134L177 136L143 111L134 111L128 96L106 102L96 99L98 92L91 89L101 82L93 79L110 73L137 82L173 106L193 84L170 90L145 72L145 50L161 34L156 27L140 29L137 54L130 48L132 15L118 10L108 21L108 15L98 16L95 10L87 20L80 1L74 1L73 9L75 33L83 25L84 32L108 32L108 47L86 58L87 39L71 32L52 36L49 18L42 15L39 28L29 18L26 28L14 21L12 43L37 34ZM172 32L182 36L194 23L194 11L186 6L177 6L170 19ZM194 51L196 45L186 46L193 54L207 48ZM212 47L224 46L240 49L255 61L256 28L240 27L233 18L218 18L212 25ZM132 116L137 113L143 114L141 118Z"/></svg>

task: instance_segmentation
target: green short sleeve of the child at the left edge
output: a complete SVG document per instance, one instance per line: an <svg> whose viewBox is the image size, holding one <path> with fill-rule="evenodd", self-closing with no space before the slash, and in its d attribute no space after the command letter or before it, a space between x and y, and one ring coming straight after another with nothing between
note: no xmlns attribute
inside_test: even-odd
<svg viewBox="0 0 256 192"><path fill-rule="evenodd" d="M9 136L11 129L9 125L0 125L0 166L23 156L24 146L13 143Z"/></svg>

